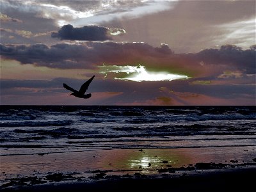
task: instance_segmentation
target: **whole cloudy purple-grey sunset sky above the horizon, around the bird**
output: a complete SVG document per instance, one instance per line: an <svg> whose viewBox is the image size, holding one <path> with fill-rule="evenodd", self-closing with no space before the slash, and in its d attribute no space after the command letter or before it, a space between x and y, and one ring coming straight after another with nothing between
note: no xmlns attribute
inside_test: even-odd
<svg viewBox="0 0 256 192"><path fill-rule="evenodd" d="M0 5L1 105L256 104L256 1Z"/></svg>

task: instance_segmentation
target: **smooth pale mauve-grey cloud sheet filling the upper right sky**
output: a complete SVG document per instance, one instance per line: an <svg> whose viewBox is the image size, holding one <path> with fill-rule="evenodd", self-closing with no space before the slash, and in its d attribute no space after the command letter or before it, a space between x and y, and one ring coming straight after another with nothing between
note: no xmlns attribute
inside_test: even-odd
<svg viewBox="0 0 256 192"><path fill-rule="evenodd" d="M124 28L127 35L116 37L119 42L142 41L155 46L165 42L179 53L223 44L246 49L255 42L255 1L177 1L174 5L157 14L102 21L100 25Z"/></svg>

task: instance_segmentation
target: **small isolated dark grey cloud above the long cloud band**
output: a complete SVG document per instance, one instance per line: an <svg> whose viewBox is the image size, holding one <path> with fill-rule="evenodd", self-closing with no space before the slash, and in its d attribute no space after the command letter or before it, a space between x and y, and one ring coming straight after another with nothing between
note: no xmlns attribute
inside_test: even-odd
<svg viewBox="0 0 256 192"><path fill-rule="evenodd" d="M57 33L53 32L51 36L61 40L105 41L112 39L109 29L100 26L74 28L72 25L65 25Z"/></svg>

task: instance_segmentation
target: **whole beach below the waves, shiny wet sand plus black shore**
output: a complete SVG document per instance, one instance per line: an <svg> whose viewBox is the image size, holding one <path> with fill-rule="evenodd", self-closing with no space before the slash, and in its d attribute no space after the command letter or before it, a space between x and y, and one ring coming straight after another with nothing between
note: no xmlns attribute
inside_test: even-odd
<svg viewBox="0 0 256 192"><path fill-rule="evenodd" d="M1 156L1 191L247 191L255 147L136 148Z"/></svg>

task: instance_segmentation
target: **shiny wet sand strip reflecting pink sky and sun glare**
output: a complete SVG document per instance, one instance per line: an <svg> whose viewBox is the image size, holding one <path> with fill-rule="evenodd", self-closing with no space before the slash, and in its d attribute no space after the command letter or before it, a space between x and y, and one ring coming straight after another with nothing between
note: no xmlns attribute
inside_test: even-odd
<svg viewBox="0 0 256 192"><path fill-rule="evenodd" d="M221 148L147 148L91 150L58 154L1 156L0 179L17 175L38 175L46 173L82 173L95 170L115 175L141 172L155 174L162 168L179 168L196 163L251 162L255 158L253 147Z"/></svg>

